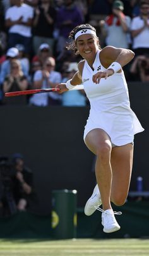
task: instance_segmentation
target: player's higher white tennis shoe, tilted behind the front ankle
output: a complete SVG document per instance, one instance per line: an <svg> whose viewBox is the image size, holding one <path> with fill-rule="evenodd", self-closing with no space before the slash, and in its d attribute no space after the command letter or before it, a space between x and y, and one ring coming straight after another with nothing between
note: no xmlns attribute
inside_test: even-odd
<svg viewBox="0 0 149 256"><path fill-rule="evenodd" d="M99 207L102 204L102 200L100 197L100 192L98 189L98 185L95 186L92 196L88 199L85 204L85 215L90 216L97 210L96 207Z"/></svg>

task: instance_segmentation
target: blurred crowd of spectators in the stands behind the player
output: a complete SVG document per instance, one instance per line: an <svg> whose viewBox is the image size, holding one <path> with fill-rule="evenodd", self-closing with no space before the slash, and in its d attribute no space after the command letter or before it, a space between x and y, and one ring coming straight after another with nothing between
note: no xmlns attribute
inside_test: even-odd
<svg viewBox="0 0 149 256"><path fill-rule="evenodd" d="M86 106L84 90L59 95L4 97L16 90L52 88L78 70L80 56L66 49L81 23L97 30L100 46L132 49L128 81L149 81L149 0L2 0L0 2L0 104Z"/></svg>

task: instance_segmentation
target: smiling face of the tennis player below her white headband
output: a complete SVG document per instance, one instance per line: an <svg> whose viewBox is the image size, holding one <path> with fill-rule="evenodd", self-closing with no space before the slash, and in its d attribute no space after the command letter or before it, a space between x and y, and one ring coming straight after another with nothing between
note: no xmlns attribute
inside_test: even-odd
<svg viewBox="0 0 149 256"><path fill-rule="evenodd" d="M76 47L84 59L93 59L98 51L98 39L91 34L80 35L76 39Z"/></svg>

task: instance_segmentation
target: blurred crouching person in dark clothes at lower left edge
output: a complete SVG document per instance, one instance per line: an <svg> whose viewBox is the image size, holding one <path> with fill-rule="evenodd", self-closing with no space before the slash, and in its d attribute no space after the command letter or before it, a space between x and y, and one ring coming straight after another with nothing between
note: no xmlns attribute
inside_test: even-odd
<svg viewBox="0 0 149 256"><path fill-rule="evenodd" d="M35 200L33 173L20 153L0 156L0 217L25 211Z"/></svg>

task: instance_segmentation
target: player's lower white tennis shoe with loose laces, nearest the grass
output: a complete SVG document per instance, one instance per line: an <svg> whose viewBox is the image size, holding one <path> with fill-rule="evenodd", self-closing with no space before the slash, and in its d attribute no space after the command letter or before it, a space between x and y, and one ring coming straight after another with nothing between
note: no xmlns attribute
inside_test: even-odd
<svg viewBox="0 0 149 256"><path fill-rule="evenodd" d="M121 212L114 212L112 209L102 210L100 207L97 207L97 210L102 212L102 226L105 233L112 233L121 228L114 216L114 214L122 214Z"/></svg>

